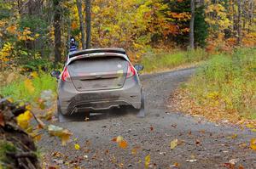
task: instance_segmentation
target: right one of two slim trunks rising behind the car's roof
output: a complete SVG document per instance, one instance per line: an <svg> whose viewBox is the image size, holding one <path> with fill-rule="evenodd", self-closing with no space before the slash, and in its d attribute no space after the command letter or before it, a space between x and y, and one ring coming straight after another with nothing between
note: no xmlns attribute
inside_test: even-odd
<svg viewBox="0 0 256 169"><path fill-rule="evenodd" d="M90 48L90 8L91 8L91 4L90 4L90 0L86 0L85 1L85 23L86 23L86 48Z"/></svg>

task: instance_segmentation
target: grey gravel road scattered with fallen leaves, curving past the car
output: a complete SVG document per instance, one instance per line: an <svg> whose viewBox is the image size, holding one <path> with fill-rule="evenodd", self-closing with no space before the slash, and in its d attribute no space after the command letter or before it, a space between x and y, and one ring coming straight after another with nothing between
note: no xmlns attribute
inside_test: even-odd
<svg viewBox="0 0 256 169"><path fill-rule="evenodd" d="M144 118L117 109L93 115L90 121L78 115L69 122L56 122L77 139L61 146L57 138L44 136L38 147L45 153L45 161L61 168L144 168L145 156L150 155L149 168L232 168L230 163L236 168L256 168L256 153L249 149L255 132L167 109L170 94L194 71L141 76L146 97ZM117 136L128 143L126 149L112 141ZM171 150L175 139L177 146ZM74 148L76 143L79 150Z"/></svg>

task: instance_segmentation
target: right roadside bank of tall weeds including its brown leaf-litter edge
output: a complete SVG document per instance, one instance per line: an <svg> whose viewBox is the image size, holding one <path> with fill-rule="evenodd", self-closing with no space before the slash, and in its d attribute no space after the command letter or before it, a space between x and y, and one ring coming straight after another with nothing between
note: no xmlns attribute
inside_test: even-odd
<svg viewBox="0 0 256 169"><path fill-rule="evenodd" d="M256 120L256 49L216 54L173 95L177 109L212 121Z"/></svg>

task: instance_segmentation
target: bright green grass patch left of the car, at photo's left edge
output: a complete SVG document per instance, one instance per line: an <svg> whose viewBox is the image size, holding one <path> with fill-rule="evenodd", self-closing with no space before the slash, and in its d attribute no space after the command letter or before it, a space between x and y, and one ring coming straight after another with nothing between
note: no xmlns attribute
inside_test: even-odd
<svg viewBox="0 0 256 169"><path fill-rule="evenodd" d="M49 76L49 73L39 71L39 73L33 72L30 77L23 77L1 87L0 95L15 101L33 102L40 98L45 90L55 93L56 86L55 78Z"/></svg>

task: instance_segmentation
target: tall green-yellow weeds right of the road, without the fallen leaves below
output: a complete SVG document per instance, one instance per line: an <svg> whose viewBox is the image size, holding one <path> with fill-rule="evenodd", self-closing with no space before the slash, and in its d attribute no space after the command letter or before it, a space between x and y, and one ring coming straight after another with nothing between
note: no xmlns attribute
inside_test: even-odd
<svg viewBox="0 0 256 169"><path fill-rule="evenodd" d="M212 105L247 117L256 112L256 49L239 49L208 60L189 82L199 105Z"/></svg>

